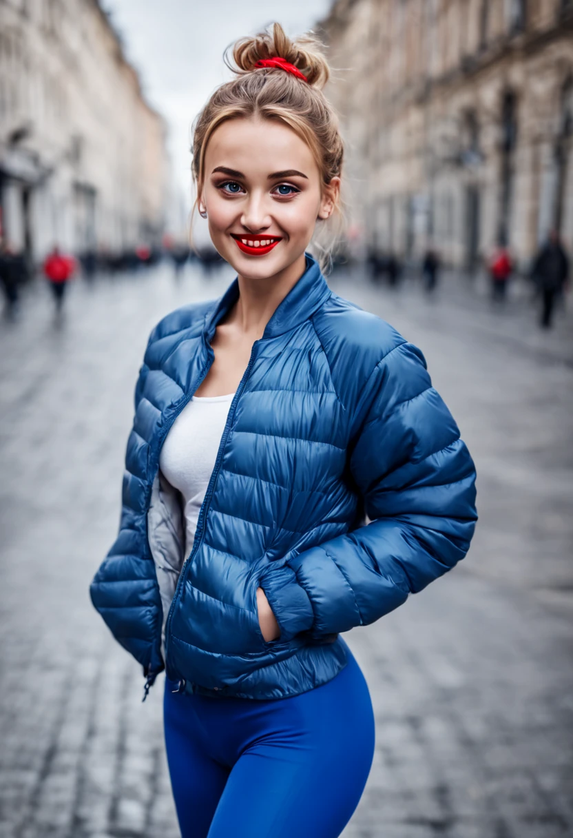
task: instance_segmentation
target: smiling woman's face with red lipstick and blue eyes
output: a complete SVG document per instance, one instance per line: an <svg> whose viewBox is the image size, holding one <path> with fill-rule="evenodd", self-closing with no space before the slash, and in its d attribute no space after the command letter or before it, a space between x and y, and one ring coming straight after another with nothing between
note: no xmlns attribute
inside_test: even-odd
<svg viewBox="0 0 573 838"><path fill-rule="evenodd" d="M209 233L241 277L275 277L302 266L317 218L328 218L338 178L324 187L310 148L283 122L232 119L205 149Z"/></svg>

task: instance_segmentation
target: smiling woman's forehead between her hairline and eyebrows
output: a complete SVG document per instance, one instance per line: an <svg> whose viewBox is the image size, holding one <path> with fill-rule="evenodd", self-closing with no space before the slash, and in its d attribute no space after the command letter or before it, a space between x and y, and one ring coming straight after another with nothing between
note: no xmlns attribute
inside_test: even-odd
<svg viewBox="0 0 573 838"><path fill-rule="evenodd" d="M309 179L319 177L307 143L274 119L230 119L219 125L205 149L205 175L209 177L216 166L235 168L253 178L289 168Z"/></svg>

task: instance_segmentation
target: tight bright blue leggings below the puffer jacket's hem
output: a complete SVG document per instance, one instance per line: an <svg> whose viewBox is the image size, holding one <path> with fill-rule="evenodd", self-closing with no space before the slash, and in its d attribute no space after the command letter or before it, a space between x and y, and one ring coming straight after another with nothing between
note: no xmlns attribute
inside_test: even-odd
<svg viewBox="0 0 573 838"><path fill-rule="evenodd" d="M172 693L165 742L183 838L336 838L374 758L368 685L348 664L298 696L256 701Z"/></svg>

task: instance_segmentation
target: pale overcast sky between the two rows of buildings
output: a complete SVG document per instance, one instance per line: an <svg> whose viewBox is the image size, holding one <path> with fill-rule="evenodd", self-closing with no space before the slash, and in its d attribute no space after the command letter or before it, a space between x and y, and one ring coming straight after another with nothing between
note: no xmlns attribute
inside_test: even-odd
<svg viewBox="0 0 573 838"><path fill-rule="evenodd" d="M173 172L189 193L189 136L194 116L230 78L225 48L277 20L301 34L323 18L331 0L103 0L142 76L147 100L168 122Z"/></svg>

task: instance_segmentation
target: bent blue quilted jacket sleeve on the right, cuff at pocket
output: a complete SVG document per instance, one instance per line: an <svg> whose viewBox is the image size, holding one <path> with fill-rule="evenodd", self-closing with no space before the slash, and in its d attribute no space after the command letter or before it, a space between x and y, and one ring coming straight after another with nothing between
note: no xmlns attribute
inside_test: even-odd
<svg viewBox="0 0 573 838"><path fill-rule="evenodd" d="M399 344L376 365L350 440L349 468L370 523L261 580L281 639L374 623L467 553L475 468L415 346Z"/></svg>

